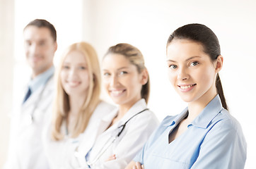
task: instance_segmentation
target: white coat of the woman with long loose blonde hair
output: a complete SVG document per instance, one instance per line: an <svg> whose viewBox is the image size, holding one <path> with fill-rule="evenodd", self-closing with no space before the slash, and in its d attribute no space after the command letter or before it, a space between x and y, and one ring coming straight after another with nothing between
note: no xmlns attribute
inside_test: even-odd
<svg viewBox="0 0 256 169"><path fill-rule="evenodd" d="M114 109L115 106L107 104L105 101L101 101L95 108L93 115L91 115L91 119L89 120L86 130L76 138L71 138L69 135L66 135L64 139L60 141L52 140L50 138L52 124L50 123L43 133L45 153L47 155L50 168L77 168L78 164L76 159L73 157L76 148L81 144L81 140L83 140L84 144L92 146L98 134L104 132L104 130L99 127L100 119L105 117ZM62 125L62 131L66 131L65 125Z"/></svg>

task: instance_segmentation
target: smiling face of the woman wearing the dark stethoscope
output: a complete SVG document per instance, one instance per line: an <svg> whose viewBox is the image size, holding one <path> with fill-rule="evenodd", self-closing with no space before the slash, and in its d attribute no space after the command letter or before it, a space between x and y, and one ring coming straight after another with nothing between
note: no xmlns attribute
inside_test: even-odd
<svg viewBox="0 0 256 169"><path fill-rule="evenodd" d="M103 84L115 104L131 107L141 99L142 74L121 54L103 59Z"/></svg>

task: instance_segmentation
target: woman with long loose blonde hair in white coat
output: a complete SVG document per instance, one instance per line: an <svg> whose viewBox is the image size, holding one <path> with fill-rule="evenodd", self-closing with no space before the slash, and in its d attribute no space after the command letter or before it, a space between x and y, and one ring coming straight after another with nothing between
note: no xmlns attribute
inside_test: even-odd
<svg viewBox="0 0 256 169"><path fill-rule="evenodd" d="M100 101L100 67L93 47L72 44L56 73L52 123L45 130L45 154L51 168L73 168L71 157L83 137L93 144L99 122L114 106Z"/></svg>

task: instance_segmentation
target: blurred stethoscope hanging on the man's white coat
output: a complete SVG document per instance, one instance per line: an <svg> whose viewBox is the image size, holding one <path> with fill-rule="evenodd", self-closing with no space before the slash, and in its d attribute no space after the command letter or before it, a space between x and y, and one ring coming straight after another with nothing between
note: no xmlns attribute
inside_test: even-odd
<svg viewBox="0 0 256 169"><path fill-rule="evenodd" d="M35 113L35 109L37 109L37 106L39 105L41 99L42 99L42 94L45 92L47 83L50 81L50 79L52 78L53 74L50 75L50 77L47 78L44 87L42 88L37 101L35 102L34 106L33 106L33 111L31 111L31 113L29 113L25 119L25 124L26 125L32 125L34 122L34 113Z"/></svg>

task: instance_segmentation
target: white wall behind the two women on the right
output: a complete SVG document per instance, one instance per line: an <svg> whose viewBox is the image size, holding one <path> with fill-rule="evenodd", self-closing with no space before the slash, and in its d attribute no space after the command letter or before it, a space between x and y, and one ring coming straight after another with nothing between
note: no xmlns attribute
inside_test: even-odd
<svg viewBox="0 0 256 169"><path fill-rule="evenodd" d="M239 120L248 142L245 168L256 168L256 137L252 130L256 118L256 89L252 87L256 83L256 1L98 0L86 1L84 8L88 6L90 15L84 15L83 27L87 28L83 29L83 39L95 46L100 58L109 46L120 42L141 50L151 77L149 108L160 120L180 113L186 105L168 82L168 36L187 23L202 23L214 30L224 57L220 73L223 90L231 114Z"/></svg>

